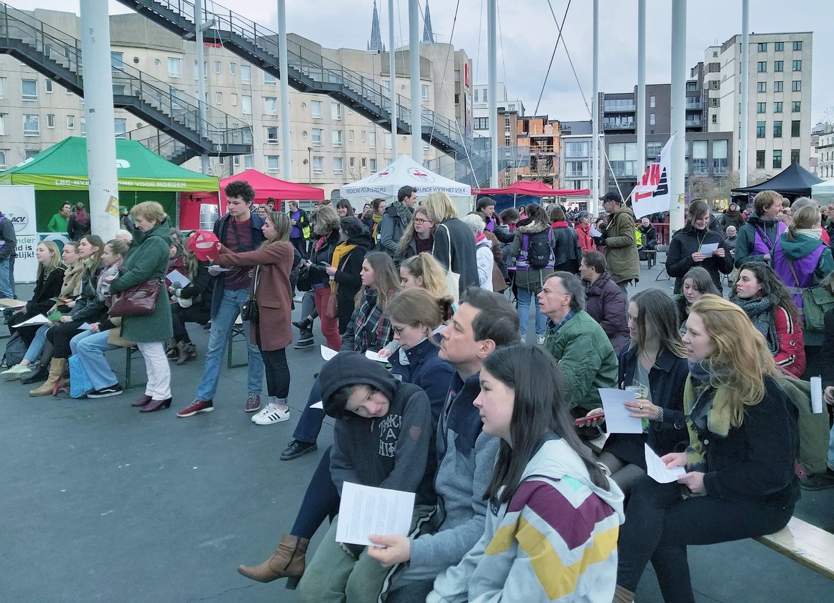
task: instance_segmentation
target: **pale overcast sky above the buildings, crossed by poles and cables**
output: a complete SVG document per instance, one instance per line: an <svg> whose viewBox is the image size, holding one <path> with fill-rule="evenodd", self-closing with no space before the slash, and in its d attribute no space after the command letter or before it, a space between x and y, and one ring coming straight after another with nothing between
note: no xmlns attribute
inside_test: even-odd
<svg viewBox="0 0 834 603"><path fill-rule="evenodd" d="M419 0L422 16L425 0ZM222 2L227 8L277 30L274 0ZM550 0L561 19L568 0ZM53 8L78 13L78 0L12 0L15 8ZM388 46L388 2L379 0L379 21ZM394 37L408 42L408 2L394 0ZM397 8L399 6L399 8ZM110 13L128 13L109 2ZM646 83L670 82L671 0L647 0ZM455 22L455 9L457 21ZM401 15L399 12L401 11ZM299 33L329 48L365 48L370 38L373 0L287 0L287 31ZM484 0L430 0L431 22L438 42L453 43L472 59L475 83L487 82L486 6ZM590 104L590 0L572 0L563 42L579 76L576 83L565 49L556 52L545 85L550 55L559 35L547 0L498 0L498 78L510 98L520 98L533 113L542 86L538 113L560 120L587 119L583 94ZM600 91L628 92L636 84L636 0L600 0ZM741 31L740 0L700 0L688 3L686 67L704 59L707 46L724 43ZM834 108L834 3L827 0L751 0L751 33L813 32L812 122ZM420 25L420 36L423 27ZM688 76L688 71L686 73ZM438 102L442 102L440 99ZM831 113L834 113L832 111Z"/></svg>

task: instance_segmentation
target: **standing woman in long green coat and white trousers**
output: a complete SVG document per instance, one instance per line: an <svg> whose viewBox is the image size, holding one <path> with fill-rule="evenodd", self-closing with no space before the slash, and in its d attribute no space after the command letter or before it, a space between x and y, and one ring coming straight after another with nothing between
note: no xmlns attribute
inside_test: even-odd
<svg viewBox="0 0 834 603"><path fill-rule="evenodd" d="M171 233L168 215L156 201L144 201L130 210L136 224L133 244L124 259L118 277L110 284L110 293L120 293L138 284L165 278L168 271L168 250ZM164 285L159 293L153 313L146 316L125 316L122 320L122 336L136 342L145 359L148 384L145 394L133 406L142 407L139 412L150 413L171 405L171 369L165 357L163 341L173 336L171 306L168 304Z"/></svg>

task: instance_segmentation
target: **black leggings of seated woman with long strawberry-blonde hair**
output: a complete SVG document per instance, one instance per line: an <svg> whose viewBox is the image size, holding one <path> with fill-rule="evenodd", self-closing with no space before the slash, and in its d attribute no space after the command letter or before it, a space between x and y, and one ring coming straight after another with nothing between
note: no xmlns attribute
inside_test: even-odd
<svg viewBox="0 0 834 603"><path fill-rule="evenodd" d="M686 545L773 534L791 520L793 506L710 495L681 500L680 485L675 482L658 484L648 475L639 478L620 531L617 584L634 592L651 560L663 600L694 602Z"/></svg>

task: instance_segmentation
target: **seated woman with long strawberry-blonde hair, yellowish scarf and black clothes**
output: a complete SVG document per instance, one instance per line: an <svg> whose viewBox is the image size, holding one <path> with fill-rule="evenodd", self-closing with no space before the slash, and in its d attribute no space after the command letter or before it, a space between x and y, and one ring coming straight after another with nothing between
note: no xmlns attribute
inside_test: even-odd
<svg viewBox="0 0 834 603"><path fill-rule="evenodd" d="M736 304L705 295L683 337L690 445L664 455L678 483L636 481L620 535L615 601L631 601L651 560L664 600L694 601L687 545L772 534L799 498L796 407L776 384L765 338Z"/></svg>

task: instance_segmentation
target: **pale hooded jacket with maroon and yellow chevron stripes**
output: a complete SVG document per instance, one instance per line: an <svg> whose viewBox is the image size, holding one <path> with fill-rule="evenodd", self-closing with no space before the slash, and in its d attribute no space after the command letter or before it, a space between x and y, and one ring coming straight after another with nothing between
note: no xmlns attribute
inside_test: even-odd
<svg viewBox="0 0 834 603"><path fill-rule="evenodd" d="M625 516L620 489L609 487L590 481L563 440L545 441L509 504L490 501L484 535L426 601L610 603Z"/></svg>

